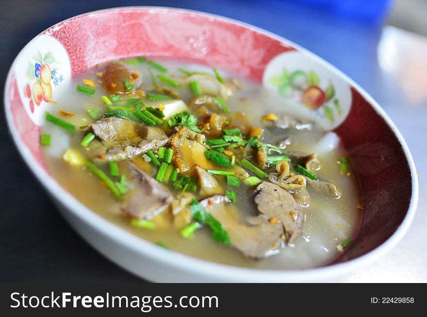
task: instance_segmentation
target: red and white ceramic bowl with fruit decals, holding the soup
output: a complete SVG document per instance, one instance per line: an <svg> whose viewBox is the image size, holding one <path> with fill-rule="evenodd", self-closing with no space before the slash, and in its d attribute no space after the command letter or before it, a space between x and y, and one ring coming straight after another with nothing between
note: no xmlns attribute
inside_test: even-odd
<svg viewBox="0 0 427 317"><path fill-rule="evenodd" d="M359 176L363 196L363 216L354 243L331 263L313 269L231 267L164 250L105 220L67 193L49 175L41 155L39 131L47 101L54 100L63 83L88 68L141 55L173 57L245 76L280 93L286 104L305 112L325 130L338 133ZM40 73L46 73L47 67L51 79L44 83L42 77L42 83ZM281 82L283 69L312 71L322 91L331 94L328 87L333 86L333 98L315 109L304 107L300 95ZM418 185L411 154L378 103L311 52L225 17L158 7L115 8L72 17L37 35L19 53L7 77L4 101L17 149L62 215L107 258L151 281L328 280L390 250L415 213Z"/></svg>

